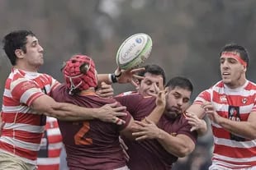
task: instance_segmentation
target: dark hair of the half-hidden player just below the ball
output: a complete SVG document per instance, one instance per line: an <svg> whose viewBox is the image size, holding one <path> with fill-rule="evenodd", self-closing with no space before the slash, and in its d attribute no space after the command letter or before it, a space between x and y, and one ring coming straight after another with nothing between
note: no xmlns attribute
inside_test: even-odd
<svg viewBox="0 0 256 170"><path fill-rule="evenodd" d="M145 76L145 73L147 73L147 72L149 72L152 75L157 75L157 76L161 75L161 76L163 76L163 83L165 85L166 76L165 76L164 69L162 67L159 67L156 64L146 65L145 66L145 70L144 71L140 71L138 73L138 76ZM141 81L141 80L139 80L139 81Z"/></svg>

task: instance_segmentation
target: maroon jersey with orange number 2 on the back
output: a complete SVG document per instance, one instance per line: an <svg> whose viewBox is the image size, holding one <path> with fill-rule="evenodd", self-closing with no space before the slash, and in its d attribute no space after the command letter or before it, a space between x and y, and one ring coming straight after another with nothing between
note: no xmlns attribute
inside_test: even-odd
<svg viewBox="0 0 256 170"><path fill-rule="evenodd" d="M100 108L115 99L102 99L95 93L69 95L64 85L60 85L52 94L58 102L73 103L87 108ZM121 117L125 125L90 120L84 122L59 121L70 170L112 170L126 165L124 154L119 144L119 131L130 122L130 114Z"/></svg>

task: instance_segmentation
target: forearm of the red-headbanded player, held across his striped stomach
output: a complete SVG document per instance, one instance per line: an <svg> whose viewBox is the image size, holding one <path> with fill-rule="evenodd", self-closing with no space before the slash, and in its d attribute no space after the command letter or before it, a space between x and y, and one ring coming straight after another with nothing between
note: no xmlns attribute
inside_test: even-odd
<svg viewBox="0 0 256 170"><path fill-rule="evenodd" d="M243 136L249 140L256 139L255 122L235 122L222 117L218 124L237 136Z"/></svg>

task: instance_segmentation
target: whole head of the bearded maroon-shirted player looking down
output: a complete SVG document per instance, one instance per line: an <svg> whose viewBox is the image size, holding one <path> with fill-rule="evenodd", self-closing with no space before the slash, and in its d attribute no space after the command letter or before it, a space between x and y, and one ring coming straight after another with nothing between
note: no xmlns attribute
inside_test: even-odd
<svg viewBox="0 0 256 170"><path fill-rule="evenodd" d="M164 113L169 118L175 118L188 107L193 85L187 78L176 76L169 80L165 86L168 87L168 94Z"/></svg>

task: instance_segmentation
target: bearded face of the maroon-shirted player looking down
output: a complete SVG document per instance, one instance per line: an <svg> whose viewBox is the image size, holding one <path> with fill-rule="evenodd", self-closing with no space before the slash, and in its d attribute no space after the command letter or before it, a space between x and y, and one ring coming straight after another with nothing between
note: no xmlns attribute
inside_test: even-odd
<svg viewBox="0 0 256 170"><path fill-rule="evenodd" d="M175 118L179 114L182 114L189 104L190 96L191 91L178 86L173 90L170 90L166 96L166 108L164 114L170 118Z"/></svg>

